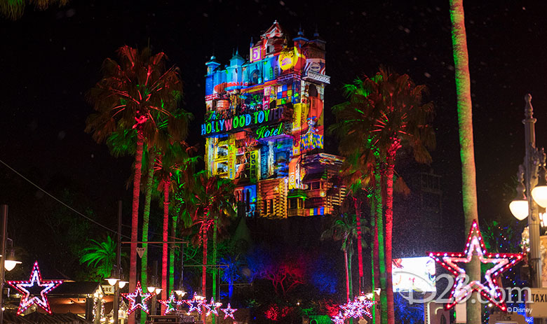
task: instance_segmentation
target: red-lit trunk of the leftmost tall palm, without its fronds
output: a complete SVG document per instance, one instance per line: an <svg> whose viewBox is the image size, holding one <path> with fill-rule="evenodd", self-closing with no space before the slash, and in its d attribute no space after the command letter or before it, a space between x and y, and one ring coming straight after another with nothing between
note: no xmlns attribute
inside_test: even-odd
<svg viewBox="0 0 547 324"><path fill-rule="evenodd" d="M137 286L137 241L139 227L139 194L142 168L142 146L144 136L137 134L137 149L135 150L135 178L133 178L133 206L131 210L131 251L129 256L129 291L135 291ZM135 323L135 315L129 316L129 324Z"/></svg>

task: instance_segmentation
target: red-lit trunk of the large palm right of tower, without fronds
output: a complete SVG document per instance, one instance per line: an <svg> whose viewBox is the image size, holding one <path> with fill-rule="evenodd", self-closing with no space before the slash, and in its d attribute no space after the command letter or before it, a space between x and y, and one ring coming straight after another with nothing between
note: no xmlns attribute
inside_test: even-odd
<svg viewBox="0 0 547 324"><path fill-rule="evenodd" d="M393 171L395 169L395 153L389 155L386 168L386 295L388 324L395 324L393 309L393 278L391 276L391 241L393 238Z"/></svg>

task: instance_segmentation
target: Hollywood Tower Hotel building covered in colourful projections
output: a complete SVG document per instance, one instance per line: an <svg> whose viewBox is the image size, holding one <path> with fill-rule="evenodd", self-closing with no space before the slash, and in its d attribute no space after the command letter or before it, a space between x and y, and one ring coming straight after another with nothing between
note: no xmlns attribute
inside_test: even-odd
<svg viewBox="0 0 547 324"><path fill-rule="evenodd" d="M205 65L205 165L234 181L238 213L314 216L341 204L342 159L323 153L325 41L299 31L290 42L274 22L248 59Z"/></svg>

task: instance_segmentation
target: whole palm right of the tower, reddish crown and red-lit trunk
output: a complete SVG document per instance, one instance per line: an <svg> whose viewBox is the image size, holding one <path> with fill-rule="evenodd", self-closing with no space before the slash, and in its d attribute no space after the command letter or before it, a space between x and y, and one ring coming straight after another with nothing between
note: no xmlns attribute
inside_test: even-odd
<svg viewBox="0 0 547 324"><path fill-rule="evenodd" d="M333 129L344 134L342 153L370 150L386 164L385 196L385 262L387 321L395 323L391 278L391 241L393 237L393 174L396 153L403 145L414 150L417 162L431 162L426 148L435 146L435 135L428 122L433 117L433 104L422 103L424 85L415 85L406 74L399 75L380 68L373 77L365 76L346 85L349 101L333 107L337 124ZM356 145L358 143L358 145ZM384 319L382 319L384 321Z"/></svg>

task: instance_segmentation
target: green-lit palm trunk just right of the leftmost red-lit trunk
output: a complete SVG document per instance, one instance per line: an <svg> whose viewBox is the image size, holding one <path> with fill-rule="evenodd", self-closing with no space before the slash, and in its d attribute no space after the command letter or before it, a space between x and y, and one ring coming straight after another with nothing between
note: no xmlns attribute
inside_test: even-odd
<svg viewBox="0 0 547 324"><path fill-rule="evenodd" d="M151 148L149 151L149 164L146 183L146 193L144 196L144 211L142 213L142 241L148 241L148 226L150 219L150 204L152 201L152 184L154 183L154 162L156 162L156 150ZM142 287L148 286L148 244L142 243L144 251L142 252L142 258L140 258L140 283ZM144 311L141 311L140 323L146 322L147 316Z"/></svg>

